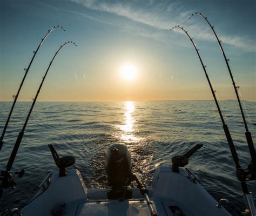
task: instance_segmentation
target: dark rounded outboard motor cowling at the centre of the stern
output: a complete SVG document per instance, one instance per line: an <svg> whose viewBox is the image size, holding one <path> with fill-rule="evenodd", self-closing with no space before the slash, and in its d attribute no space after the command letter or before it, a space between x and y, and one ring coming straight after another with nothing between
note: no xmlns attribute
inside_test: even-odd
<svg viewBox="0 0 256 216"><path fill-rule="evenodd" d="M114 143L106 152L105 170L107 180L112 187L123 187L130 177L132 169L131 154L127 146Z"/></svg>

